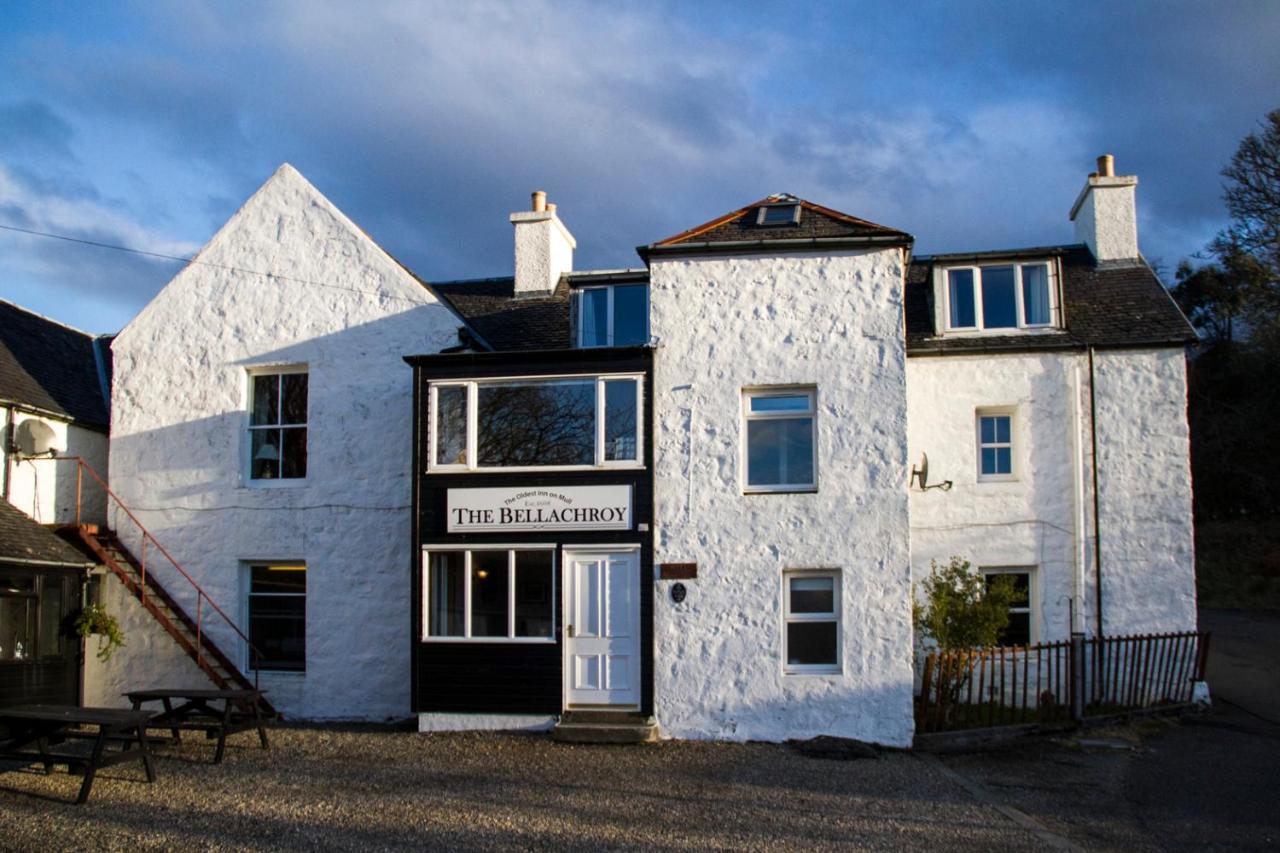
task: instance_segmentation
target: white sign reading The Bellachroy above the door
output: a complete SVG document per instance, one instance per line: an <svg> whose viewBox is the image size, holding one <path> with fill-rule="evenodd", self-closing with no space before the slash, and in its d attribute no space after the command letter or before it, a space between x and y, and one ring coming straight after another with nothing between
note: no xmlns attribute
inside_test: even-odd
<svg viewBox="0 0 1280 853"><path fill-rule="evenodd" d="M449 489L449 533L630 530L630 485Z"/></svg>

